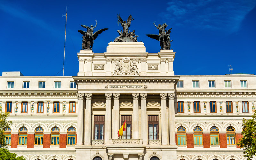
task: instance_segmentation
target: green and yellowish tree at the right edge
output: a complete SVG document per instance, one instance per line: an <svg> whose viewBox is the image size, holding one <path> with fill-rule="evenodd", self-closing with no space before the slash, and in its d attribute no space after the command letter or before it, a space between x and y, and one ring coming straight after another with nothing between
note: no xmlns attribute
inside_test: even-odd
<svg viewBox="0 0 256 160"><path fill-rule="evenodd" d="M237 145L244 148L244 156L251 159L253 155L256 156L256 112L252 115L252 119L243 118L242 135Z"/></svg>

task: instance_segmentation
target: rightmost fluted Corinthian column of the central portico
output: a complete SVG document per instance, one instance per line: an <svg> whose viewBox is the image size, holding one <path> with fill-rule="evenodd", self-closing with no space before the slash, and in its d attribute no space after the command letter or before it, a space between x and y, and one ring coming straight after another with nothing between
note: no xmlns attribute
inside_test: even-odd
<svg viewBox="0 0 256 160"><path fill-rule="evenodd" d="M174 109L174 96L175 93L168 94L169 97L169 138L170 138L170 145L175 144L175 109Z"/></svg>

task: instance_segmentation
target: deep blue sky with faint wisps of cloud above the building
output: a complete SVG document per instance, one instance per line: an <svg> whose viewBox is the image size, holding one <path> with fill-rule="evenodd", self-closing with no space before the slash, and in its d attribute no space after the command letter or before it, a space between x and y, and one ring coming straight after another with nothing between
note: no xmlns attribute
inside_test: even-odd
<svg viewBox="0 0 256 160"><path fill-rule="evenodd" d="M132 14L130 30L146 52L160 52L153 22L172 28L175 75L256 74L256 0L170 1L5 1L0 0L0 75L21 71L25 76L54 76L63 67L65 18L68 5L65 73L76 76L82 36L80 25L109 28L94 41L93 52L106 52L118 36L116 15ZM62 71L57 74L61 76Z"/></svg>

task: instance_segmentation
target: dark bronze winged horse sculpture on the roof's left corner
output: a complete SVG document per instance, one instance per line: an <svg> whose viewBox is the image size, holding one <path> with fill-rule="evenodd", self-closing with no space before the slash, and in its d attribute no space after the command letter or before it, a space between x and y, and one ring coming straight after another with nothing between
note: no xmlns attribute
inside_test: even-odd
<svg viewBox="0 0 256 160"><path fill-rule="evenodd" d="M96 21L96 20L95 20ZM86 28L87 31L83 31L83 30L78 30L79 33L81 33L83 35L83 43L82 43L82 50L92 50L92 46L94 43L94 40L99 36L99 34L101 34L103 31L108 30L108 28L103 28L98 30L97 32L95 32L93 34L93 29L97 26L97 21L96 21L96 25L93 27L93 25L91 24L91 27L89 26L85 26L85 25L81 25L82 27Z"/></svg>

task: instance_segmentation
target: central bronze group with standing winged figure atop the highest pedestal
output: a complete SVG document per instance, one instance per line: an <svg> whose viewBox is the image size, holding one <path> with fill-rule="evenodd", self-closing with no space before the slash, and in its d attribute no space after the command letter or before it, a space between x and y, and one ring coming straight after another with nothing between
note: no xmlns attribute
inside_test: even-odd
<svg viewBox="0 0 256 160"><path fill-rule="evenodd" d="M133 30L132 32L129 31L131 21L134 20L132 18L132 15L128 17L127 21L123 21L123 19L119 15L117 15L117 18L118 23L121 23L123 27L123 32L122 30L117 30L117 32L119 33L119 37L116 37L114 42L137 42L138 36L135 35L135 30Z"/></svg>

